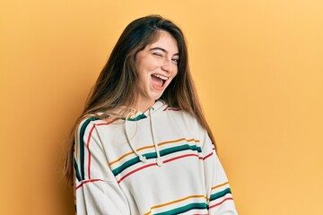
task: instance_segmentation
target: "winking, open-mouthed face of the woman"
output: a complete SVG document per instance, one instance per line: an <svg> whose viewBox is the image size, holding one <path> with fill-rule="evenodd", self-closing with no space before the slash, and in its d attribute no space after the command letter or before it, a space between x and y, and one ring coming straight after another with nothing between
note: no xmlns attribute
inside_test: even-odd
<svg viewBox="0 0 323 215"><path fill-rule="evenodd" d="M137 108L145 111L160 99L162 92L178 73L179 47L166 31L135 56L139 98Z"/></svg>

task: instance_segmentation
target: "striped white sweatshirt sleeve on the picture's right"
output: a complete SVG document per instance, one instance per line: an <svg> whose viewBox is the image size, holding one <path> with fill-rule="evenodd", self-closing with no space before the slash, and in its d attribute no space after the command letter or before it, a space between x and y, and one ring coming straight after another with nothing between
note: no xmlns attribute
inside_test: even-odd
<svg viewBox="0 0 323 215"><path fill-rule="evenodd" d="M236 211L229 181L207 133L203 137L205 185L209 214L235 215Z"/></svg>

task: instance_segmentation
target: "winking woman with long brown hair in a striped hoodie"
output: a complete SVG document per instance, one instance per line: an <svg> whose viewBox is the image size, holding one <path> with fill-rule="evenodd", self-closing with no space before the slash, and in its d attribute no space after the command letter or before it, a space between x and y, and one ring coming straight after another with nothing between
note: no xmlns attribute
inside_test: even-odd
<svg viewBox="0 0 323 215"><path fill-rule="evenodd" d="M77 214L237 214L213 142L182 31L131 22L71 137Z"/></svg>

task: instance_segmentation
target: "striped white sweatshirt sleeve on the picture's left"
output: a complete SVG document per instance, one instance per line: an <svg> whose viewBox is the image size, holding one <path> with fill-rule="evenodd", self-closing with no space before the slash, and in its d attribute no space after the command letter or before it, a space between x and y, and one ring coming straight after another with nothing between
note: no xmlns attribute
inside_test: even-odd
<svg viewBox="0 0 323 215"><path fill-rule="evenodd" d="M75 134L75 210L83 214L130 214L127 199L113 176L93 118Z"/></svg>

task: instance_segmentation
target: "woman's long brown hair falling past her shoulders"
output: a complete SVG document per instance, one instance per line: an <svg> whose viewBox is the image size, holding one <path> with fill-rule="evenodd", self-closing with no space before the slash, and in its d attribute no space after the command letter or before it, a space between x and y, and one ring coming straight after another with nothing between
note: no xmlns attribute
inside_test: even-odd
<svg viewBox="0 0 323 215"><path fill-rule="evenodd" d="M148 44L153 43L159 33L167 31L177 41L179 47L179 69L170 85L164 90L162 98L171 107L179 107L195 116L209 134L214 143L214 136L205 120L196 88L188 66L188 48L183 32L173 22L160 15L145 16L127 25L116 46L113 48L107 64L100 72L83 109L68 139L69 150L65 158L65 176L73 181L74 133L84 117L96 113L120 114L121 107L135 104L137 92L137 75L135 55Z"/></svg>

